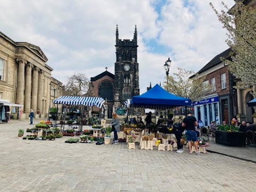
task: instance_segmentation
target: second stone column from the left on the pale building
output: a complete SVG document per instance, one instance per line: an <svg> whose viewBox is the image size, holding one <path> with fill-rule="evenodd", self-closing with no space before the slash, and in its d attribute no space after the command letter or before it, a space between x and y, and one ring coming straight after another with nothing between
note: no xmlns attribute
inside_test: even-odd
<svg viewBox="0 0 256 192"><path fill-rule="evenodd" d="M25 109L26 113L29 113L31 105L31 71L33 65L28 63L26 65L26 83L25 83Z"/></svg>

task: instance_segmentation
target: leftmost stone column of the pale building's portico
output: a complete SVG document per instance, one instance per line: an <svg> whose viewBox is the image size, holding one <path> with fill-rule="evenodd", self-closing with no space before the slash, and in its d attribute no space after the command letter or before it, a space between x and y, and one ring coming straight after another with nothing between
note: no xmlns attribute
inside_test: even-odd
<svg viewBox="0 0 256 192"><path fill-rule="evenodd" d="M17 82L17 95L16 103L23 105L24 102L24 79L25 79L25 63L23 59L17 59L18 62L18 82Z"/></svg>

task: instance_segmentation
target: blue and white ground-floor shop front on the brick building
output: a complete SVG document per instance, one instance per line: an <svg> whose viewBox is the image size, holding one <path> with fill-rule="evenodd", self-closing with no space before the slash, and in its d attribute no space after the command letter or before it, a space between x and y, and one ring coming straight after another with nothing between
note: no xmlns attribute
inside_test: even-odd
<svg viewBox="0 0 256 192"><path fill-rule="evenodd" d="M195 117L202 121L203 126L208 126L212 121L220 124L220 107L218 94L204 97L201 101L193 102Z"/></svg>

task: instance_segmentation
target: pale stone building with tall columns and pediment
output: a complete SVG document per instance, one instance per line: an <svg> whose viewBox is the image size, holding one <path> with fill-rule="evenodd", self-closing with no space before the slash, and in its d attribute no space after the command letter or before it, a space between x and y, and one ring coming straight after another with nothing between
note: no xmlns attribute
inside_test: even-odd
<svg viewBox="0 0 256 192"><path fill-rule="evenodd" d="M53 69L47 60L40 47L14 42L0 32L0 99L23 105L19 119L27 118L30 109L39 110L41 117L48 113Z"/></svg>

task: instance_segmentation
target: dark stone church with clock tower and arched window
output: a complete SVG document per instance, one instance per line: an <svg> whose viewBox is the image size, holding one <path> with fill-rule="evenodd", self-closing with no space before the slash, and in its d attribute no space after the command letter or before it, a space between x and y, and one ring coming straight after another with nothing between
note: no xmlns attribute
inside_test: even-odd
<svg viewBox="0 0 256 192"><path fill-rule="evenodd" d="M105 99L108 118L117 108L123 107L127 99L140 94L139 63L137 62L137 27L135 26L133 39L119 39L116 26L116 62L115 74L104 71L91 77L90 89L94 97Z"/></svg>

